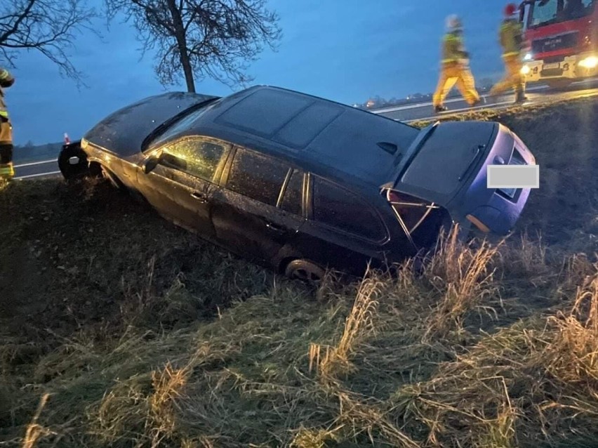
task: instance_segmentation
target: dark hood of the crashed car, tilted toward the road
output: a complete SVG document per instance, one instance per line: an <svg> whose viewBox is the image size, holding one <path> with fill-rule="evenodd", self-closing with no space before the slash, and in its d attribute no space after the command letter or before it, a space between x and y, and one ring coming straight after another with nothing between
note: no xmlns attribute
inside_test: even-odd
<svg viewBox="0 0 598 448"><path fill-rule="evenodd" d="M113 112L83 138L119 157L138 154L145 138L158 126L188 107L213 98L218 97L186 92L150 96Z"/></svg>

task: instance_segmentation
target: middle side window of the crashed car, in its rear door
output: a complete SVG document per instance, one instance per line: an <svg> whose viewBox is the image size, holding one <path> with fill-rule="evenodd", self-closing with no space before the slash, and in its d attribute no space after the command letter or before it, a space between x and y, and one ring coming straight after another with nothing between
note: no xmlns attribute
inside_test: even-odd
<svg viewBox="0 0 598 448"><path fill-rule="evenodd" d="M257 152L237 149L227 181L227 188L276 206L288 166Z"/></svg>

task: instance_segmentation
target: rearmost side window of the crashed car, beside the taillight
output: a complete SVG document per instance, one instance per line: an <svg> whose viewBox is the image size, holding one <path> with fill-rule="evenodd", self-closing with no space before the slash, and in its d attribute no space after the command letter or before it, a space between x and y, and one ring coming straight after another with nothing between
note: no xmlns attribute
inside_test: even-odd
<svg viewBox="0 0 598 448"><path fill-rule="evenodd" d="M372 241L386 236L380 217L367 202L317 176L314 176L314 220Z"/></svg>

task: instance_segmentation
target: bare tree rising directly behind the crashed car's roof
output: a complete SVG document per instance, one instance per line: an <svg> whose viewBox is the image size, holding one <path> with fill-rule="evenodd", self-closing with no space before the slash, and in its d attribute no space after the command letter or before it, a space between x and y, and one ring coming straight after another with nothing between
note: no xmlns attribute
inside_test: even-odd
<svg viewBox="0 0 598 448"><path fill-rule="evenodd" d="M142 41L156 50L154 70L164 86L184 76L187 91L211 77L228 86L246 84L248 63L273 50L281 37L266 0L105 0L109 20L124 13Z"/></svg>

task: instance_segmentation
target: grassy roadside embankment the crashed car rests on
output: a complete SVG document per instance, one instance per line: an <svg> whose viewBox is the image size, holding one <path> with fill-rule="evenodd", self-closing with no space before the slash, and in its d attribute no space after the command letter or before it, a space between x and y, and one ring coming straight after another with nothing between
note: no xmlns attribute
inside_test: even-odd
<svg viewBox="0 0 598 448"><path fill-rule="evenodd" d="M519 112L476 116L540 164L519 234L317 294L107 185L9 185L0 446L592 446L598 102Z"/></svg>

